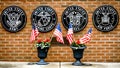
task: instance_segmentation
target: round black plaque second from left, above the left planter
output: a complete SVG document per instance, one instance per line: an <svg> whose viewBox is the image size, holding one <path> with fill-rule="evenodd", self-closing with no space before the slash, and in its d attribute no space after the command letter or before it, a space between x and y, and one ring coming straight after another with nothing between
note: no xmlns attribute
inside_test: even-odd
<svg viewBox="0 0 120 68"><path fill-rule="evenodd" d="M50 6L39 6L33 11L31 21L40 32L49 32L56 26L57 14Z"/></svg>

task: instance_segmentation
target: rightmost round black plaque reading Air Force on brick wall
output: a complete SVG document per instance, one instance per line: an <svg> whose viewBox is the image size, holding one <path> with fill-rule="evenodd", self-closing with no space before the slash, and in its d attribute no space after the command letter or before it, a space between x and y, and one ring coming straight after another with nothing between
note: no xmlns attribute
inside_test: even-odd
<svg viewBox="0 0 120 68"><path fill-rule="evenodd" d="M93 13L93 24L99 31L112 31L118 24L118 15L113 6L100 6Z"/></svg>

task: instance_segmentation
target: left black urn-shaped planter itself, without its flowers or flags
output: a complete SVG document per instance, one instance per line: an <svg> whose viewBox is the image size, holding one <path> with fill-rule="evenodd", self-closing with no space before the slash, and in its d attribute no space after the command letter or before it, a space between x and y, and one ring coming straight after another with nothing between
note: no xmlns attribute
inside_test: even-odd
<svg viewBox="0 0 120 68"><path fill-rule="evenodd" d="M44 59L47 57L47 53L49 50L49 46L45 48L38 47L38 57L40 58L40 61L37 63L38 65L47 65L48 63L44 61Z"/></svg>

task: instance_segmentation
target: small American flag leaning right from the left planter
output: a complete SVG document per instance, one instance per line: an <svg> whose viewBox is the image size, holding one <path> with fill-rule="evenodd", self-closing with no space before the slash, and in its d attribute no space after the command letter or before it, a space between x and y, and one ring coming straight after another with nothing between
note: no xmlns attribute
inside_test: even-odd
<svg viewBox="0 0 120 68"><path fill-rule="evenodd" d="M60 43L64 44L64 40L63 40L63 36L61 33L61 28L60 28L60 24L57 25L55 31L54 31L54 35L56 36L56 40Z"/></svg>

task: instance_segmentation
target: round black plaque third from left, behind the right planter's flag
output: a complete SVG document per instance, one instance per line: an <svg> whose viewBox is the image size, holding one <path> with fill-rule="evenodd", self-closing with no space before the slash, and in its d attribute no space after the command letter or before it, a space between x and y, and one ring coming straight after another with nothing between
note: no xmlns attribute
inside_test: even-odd
<svg viewBox="0 0 120 68"><path fill-rule="evenodd" d="M83 30L88 23L87 12L80 6L68 6L62 14L62 23L66 29L68 29L69 23L72 23L73 31L79 32Z"/></svg>

